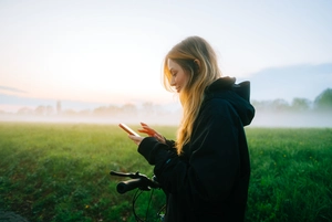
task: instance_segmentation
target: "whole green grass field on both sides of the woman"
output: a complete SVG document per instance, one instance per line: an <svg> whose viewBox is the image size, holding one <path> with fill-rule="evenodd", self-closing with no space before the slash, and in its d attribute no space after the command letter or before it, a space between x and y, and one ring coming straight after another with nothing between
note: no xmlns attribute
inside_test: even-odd
<svg viewBox="0 0 332 222"><path fill-rule="evenodd" d="M155 126L168 138L175 127ZM247 221L332 221L332 129L247 128L251 180ZM135 191L110 171L152 176L117 126L0 123L0 209L31 222L134 221ZM151 192L137 202L144 218ZM165 199L154 192L149 221Z"/></svg>

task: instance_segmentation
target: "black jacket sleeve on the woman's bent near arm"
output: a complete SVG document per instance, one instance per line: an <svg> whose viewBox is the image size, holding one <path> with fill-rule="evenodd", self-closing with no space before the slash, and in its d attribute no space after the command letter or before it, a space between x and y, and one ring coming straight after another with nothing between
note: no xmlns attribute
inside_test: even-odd
<svg viewBox="0 0 332 222"><path fill-rule="evenodd" d="M206 201L227 198L239 166L237 117L231 106L209 103L195 123L189 141L189 159L165 149L154 138L145 138L138 151L155 165L154 172L170 193L198 195Z"/></svg>

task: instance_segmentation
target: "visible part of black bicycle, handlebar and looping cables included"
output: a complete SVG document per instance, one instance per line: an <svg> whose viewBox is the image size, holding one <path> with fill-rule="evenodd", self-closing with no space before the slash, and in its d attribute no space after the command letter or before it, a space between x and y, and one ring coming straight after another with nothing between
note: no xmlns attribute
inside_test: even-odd
<svg viewBox="0 0 332 222"><path fill-rule="evenodd" d="M125 178L131 178L129 180L121 181L116 186L116 191L121 194L124 194L131 190L137 189L133 197L133 202L132 202L132 211L135 216L135 220L137 222L147 222L147 215L148 215L148 209L149 204L154 194L155 189L160 189L160 184L157 182L157 179L155 176L153 176L152 179L149 179L145 175L141 175L138 171L133 173L133 172L116 172L116 171L111 171L111 176L117 176L117 177L125 177ZM145 221L141 219L135 211L135 203L138 197L142 194L144 191L152 191L152 194L149 197L148 205L146 209L146 215L145 215ZM165 205L160 208L160 210L157 213L157 216L159 218L159 221L164 221L164 212L165 211Z"/></svg>

